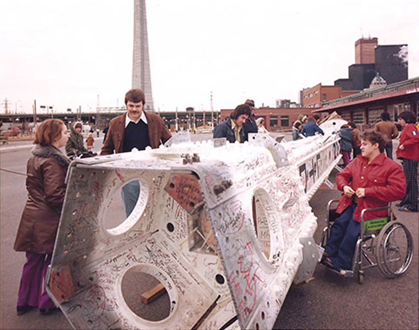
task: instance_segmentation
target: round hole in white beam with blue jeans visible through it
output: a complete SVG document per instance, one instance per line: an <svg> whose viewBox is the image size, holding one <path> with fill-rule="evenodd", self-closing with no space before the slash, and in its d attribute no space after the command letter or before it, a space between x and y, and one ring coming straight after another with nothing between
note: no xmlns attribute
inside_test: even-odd
<svg viewBox="0 0 419 330"><path fill-rule="evenodd" d="M144 213L147 200L148 186L140 180L116 187L105 202L103 228L111 235L127 232Z"/></svg>

